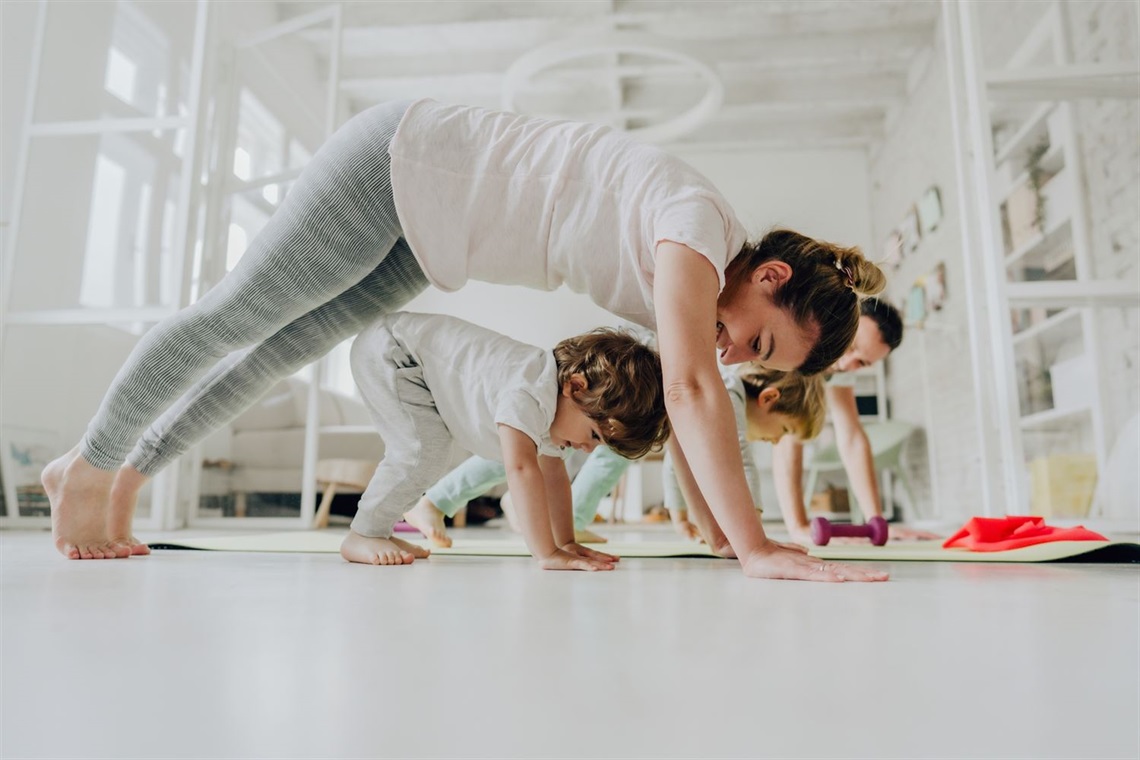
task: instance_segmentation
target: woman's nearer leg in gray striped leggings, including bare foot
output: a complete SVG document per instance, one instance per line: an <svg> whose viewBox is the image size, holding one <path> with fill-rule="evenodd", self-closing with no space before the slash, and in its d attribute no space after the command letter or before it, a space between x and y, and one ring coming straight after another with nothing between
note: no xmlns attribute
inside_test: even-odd
<svg viewBox="0 0 1140 760"><path fill-rule="evenodd" d="M142 430L214 362L266 340L378 265L400 236L388 144L405 106L378 106L321 147L238 265L150 329L112 382L83 441L48 465L56 547L125 556L106 531L114 471Z"/></svg>

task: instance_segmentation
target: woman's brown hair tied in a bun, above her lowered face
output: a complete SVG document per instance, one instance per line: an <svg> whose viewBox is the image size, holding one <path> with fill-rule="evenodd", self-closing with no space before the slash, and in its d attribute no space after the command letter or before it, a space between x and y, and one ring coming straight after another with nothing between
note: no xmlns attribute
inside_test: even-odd
<svg viewBox="0 0 1140 760"><path fill-rule="evenodd" d="M774 229L759 242L746 243L732 260L725 270L725 293L731 295L768 261L782 261L791 268L791 276L773 294L775 305L788 309L800 328L819 327L819 338L797 370L801 375L821 373L855 340L860 299L882 292L887 277L857 247Z"/></svg>

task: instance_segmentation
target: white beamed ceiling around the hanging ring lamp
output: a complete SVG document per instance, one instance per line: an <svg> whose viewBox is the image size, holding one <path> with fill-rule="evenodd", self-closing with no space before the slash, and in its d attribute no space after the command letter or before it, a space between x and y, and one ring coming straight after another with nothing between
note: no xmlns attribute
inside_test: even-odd
<svg viewBox="0 0 1140 760"><path fill-rule="evenodd" d="M328 5L277 8L285 21ZM353 111L416 97L503 108L506 73L522 56L636 35L723 83L715 113L679 142L870 146L930 55L938 13L936 0L345 2L340 76ZM329 27L303 38L327 66ZM535 74L514 107L640 129L695 106L708 87L676 62L610 52Z"/></svg>

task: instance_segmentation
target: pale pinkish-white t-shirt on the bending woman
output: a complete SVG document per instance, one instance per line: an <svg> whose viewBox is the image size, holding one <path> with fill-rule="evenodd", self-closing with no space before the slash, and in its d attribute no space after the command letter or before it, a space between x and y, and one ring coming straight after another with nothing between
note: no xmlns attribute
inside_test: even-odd
<svg viewBox="0 0 1140 760"><path fill-rule="evenodd" d="M657 244L724 269L746 232L712 183L609 126L418 100L389 147L404 237L433 285L565 284L656 329Z"/></svg>

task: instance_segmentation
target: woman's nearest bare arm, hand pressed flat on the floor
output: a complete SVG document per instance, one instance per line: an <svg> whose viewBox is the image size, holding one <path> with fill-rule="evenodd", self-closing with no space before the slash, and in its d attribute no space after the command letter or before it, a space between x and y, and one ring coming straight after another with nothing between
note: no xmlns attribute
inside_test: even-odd
<svg viewBox="0 0 1140 760"><path fill-rule="evenodd" d="M657 246L653 302L674 434L697 485L746 574L808 580L885 580L886 573L813 559L767 539L756 518L736 444L735 419L716 367L718 283L692 248Z"/></svg>

